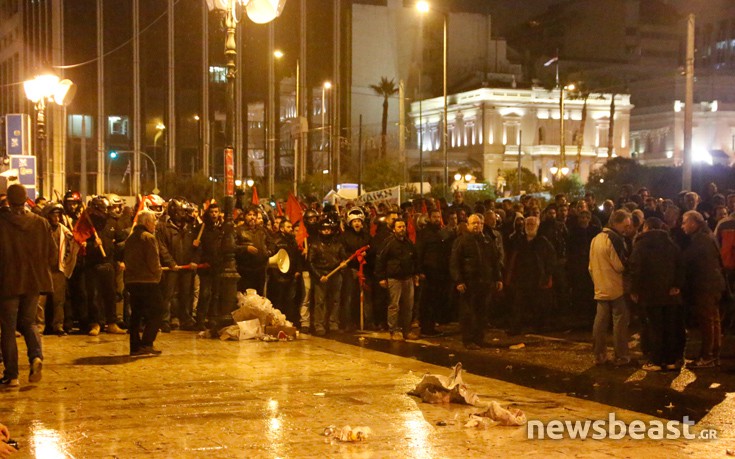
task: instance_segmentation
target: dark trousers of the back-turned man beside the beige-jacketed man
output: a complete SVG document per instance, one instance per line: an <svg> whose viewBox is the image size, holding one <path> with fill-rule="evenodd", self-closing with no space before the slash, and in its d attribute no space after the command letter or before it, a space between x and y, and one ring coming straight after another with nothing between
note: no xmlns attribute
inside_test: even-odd
<svg viewBox="0 0 735 459"><path fill-rule="evenodd" d="M684 356L684 315L679 304L641 304L651 362L671 365Z"/></svg>

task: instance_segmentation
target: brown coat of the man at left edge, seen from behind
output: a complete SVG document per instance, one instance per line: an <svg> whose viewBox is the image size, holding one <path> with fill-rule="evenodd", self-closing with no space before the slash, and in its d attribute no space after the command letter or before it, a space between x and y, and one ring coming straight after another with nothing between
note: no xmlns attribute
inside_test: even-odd
<svg viewBox="0 0 735 459"><path fill-rule="evenodd" d="M45 218L29 211L1 211L0 298L53 292L57 250Z"/></svg>

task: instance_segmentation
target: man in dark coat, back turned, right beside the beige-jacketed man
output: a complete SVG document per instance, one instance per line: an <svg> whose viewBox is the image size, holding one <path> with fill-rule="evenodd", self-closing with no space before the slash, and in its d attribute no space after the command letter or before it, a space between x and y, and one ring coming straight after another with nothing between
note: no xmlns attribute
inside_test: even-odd
<svg viewBox="0 0 735 459"><path fill-rule="evenodd" d="M679 247L671 240L664 223L649 217L636 238L628 258L630 297L641 306L650 362L646 371L673 370L684 356L684 316L681 287L684 265Z"/></svg>

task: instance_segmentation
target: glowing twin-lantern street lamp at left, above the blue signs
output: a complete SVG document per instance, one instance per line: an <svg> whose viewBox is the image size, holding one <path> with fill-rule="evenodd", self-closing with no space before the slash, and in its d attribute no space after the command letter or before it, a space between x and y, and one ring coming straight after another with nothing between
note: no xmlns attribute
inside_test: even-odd
<svg viewBox="0 0 735 459"><path fill-rule="evenodd" d="M23 89L26 98L35 104L36 109L36 138L38 140L36 156L39 158L36 176L40 177L38 189L39 194L43 195L44 176L48 174L46 163L49 162L46 143L46 102L54 102L62 106L69 105L76 94L76 85L71 80L61 80L52 73L43 73L24 81Z"/></svg>

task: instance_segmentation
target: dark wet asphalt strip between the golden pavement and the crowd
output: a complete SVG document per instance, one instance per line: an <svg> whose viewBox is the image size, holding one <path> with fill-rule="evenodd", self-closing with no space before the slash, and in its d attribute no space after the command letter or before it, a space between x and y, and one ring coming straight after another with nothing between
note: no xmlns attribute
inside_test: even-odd
<svg viewBox="0 0 735 459"><path fill-rule="evenodd" d="M468 351L456 323L440 327L443 335L392 343L387 333L358 332L330 338L381 352L450 367L462 362L467 371L515 384L562 393L667 419L688 416L699 421L735 392L735 336L725 336L718 368L646 372L639 365L596 366L591 336L584 331L507 336L500 329L486 333L486 346ZM631 339L631 355L641 359L638 335ZM520 349L511 349L519 347ZM691 356L699 346L690 333Z"/></svg>

